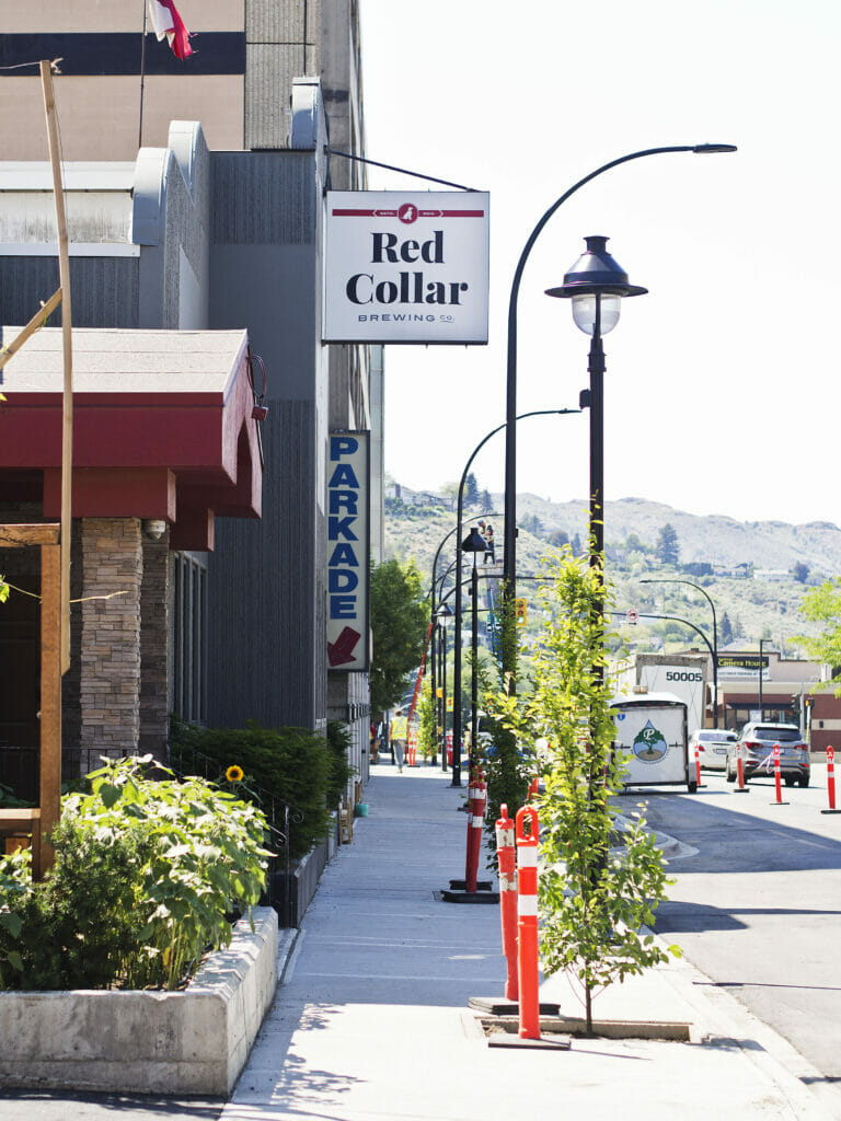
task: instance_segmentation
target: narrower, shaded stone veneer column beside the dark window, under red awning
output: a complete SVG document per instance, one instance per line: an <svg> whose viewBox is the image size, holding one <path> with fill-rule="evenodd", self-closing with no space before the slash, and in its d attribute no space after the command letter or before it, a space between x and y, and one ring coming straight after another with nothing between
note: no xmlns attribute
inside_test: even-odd
<svg viewBox="0 0 841 1121"><path fill-rule="evenodd" d="M140 593L140 735L142 753L166 759L170 664L168 633L169 528L159 540L144 538L142 591Z"/></svg>

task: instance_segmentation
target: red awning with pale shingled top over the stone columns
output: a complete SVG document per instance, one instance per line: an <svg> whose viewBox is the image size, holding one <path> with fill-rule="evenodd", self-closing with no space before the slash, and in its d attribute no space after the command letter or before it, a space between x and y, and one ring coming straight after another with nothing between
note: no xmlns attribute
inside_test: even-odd
<svg viewBox="0 0 841 1121"><path fill-rule="evenodd" d="M11 339L13 327L4 328ZM62 333L4 367L0 494L59 513ZM73 331L73 516L155 518L213 547L214 515L258 518L262 466L244 331Z"/></svg>

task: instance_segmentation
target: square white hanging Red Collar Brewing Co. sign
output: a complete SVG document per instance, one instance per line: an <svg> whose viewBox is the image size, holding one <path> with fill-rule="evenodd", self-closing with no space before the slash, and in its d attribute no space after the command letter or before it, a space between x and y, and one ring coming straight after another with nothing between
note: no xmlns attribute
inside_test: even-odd
<svg viewBox="0 0 841 1121"><path fill-rule="evenodd" d="M487 343L489 196L329 191L327 343Z"/></svg>

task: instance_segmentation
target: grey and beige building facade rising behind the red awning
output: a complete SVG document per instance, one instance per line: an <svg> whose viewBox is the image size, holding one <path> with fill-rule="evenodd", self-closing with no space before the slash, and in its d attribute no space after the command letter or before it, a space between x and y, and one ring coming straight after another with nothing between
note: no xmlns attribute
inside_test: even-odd
<svg viewBox="0 0 841 1121"><path fill-rule="evenodd" d="M324 192L364 185L363 164L326 151L363 148L357 4L182 0L195 53L178 62L147 36L139 149L145 4L119 7L98 9L94 28L81 0L3 0L0 62L64 59L54 83L74 327L248 331L268 409L262 518L218 510L191 547L169 541L172 641L188 633L190 664L170 675L167 703L229 726L348 721L364 776L367 675L327 673L326 441L375 421L381 472L382 361L321 342ZM13 73L0 77L3 324L26 322L57 287L39 81ZM381 475L372 492L381 503ZM381 506L375 555L379 543Z"/></svg>

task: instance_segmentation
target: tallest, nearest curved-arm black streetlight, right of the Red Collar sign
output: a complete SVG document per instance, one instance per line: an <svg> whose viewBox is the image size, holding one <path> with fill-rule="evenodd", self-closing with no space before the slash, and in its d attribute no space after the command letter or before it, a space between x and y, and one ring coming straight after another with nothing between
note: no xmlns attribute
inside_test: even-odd
<svg viewBox="0 0 841 1121"><path fill-rule="evenodd" d="M620 164L628 164L635 159L643 159L646 156L660 156L668 152L694 152L696 155L711 155L715 152L736 151L734 145L728 143L701 143L701 145L675 145L663 148L645 148L641 151L632 151L627 156L612 159L594 172L585 175L577 183L574 183L569 191L557 198L546 211L540 221L532 231L526 242L511 281L511 291L508 299L508 351L506 364L506 479L505 479L505 528L502 534L502 578L503 594L510 601L514 600L517 591L517 426L514 423L517 417L517 300L519 297L520 281L526 261L534 248L537 238L548 220L572 195L591 179L603 175L604 172L619 167ZM514 671L514 666L503 667L509 673Z"/></svg>

